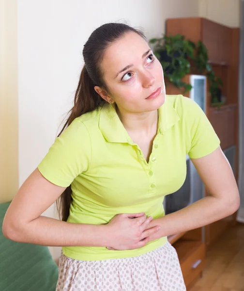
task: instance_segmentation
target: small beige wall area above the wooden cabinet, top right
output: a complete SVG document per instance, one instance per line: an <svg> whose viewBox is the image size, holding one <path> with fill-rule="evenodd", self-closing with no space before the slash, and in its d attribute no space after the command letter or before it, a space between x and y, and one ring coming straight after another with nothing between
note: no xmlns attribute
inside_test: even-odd
<svg viewBox="0 0 244 291"><path fill-rule="evenodd" d="M198 1L199 16L230 27L240 27L240 0Z"/></svg>

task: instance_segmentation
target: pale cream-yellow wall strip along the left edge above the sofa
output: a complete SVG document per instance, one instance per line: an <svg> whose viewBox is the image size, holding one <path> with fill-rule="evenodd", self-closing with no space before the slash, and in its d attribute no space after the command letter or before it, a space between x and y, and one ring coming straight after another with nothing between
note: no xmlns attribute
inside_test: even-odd
<svg viewBox="0 0 244 291"><path fill-rule="evenodd" d="M17 0L0 0L0 203L18 189Z"/></svg>

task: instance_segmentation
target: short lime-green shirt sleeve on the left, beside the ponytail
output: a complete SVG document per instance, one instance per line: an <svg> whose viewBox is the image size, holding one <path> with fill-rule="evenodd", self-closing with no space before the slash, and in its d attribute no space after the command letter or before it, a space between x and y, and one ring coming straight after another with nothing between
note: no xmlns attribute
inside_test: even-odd
<svg viewBox="0 0 244 291"><path fill-rule="evenodd" d="M91 140L84 123L75 119L57 137L48 153L38 165L38 170L50 182L68 187L91 160Z"/></svg>

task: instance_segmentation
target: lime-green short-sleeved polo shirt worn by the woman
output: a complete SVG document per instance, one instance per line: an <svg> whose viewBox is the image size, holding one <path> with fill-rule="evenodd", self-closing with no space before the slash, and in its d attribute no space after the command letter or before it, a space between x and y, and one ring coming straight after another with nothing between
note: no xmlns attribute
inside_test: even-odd
<svg viewBox="0 0 244 291"><path fill-rule="evenodd" d="M220 144L198 104L182 95L167 95L158 109L158 130L149 162L124 129L113 104L77 117L56 138L38 165L50 182L72 188L68 222L107 224L118 213L165 215L165 195L174 193L186 177L186 154L200 158ZM80 260L135 257L158 248L167 237L134 250L106 247L62 247Z"/></svg>

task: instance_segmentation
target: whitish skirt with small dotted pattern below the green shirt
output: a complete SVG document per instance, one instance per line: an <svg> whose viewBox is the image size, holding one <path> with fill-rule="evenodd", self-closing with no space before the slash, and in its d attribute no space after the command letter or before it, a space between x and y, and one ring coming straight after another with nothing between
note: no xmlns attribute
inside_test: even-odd
<svg viewBox="0 0 244 291"><path fill-rule="evenodd" d="M61 253L56 291L185 291L175 248L166 242L144 255L84 261Z"/></svg>

